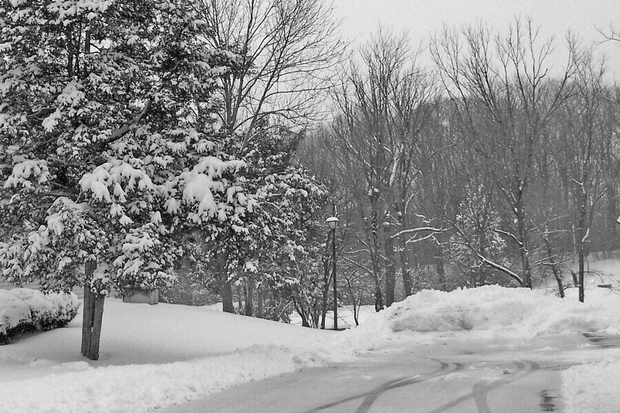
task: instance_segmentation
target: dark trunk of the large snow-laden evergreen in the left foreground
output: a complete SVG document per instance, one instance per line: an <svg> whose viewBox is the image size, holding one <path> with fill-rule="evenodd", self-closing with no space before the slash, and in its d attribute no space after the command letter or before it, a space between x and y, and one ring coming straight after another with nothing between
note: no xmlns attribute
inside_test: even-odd
<svg viewBox="0 0 620 413"><path fill-rule="evenodd" d="M84 308L82 319L81 353L91 360L99 359L99 341L101 339L101 322L103 320L103 302L105 295L90 290L90 279L96 268L96 262L89 260L85 264Z"/></svg>

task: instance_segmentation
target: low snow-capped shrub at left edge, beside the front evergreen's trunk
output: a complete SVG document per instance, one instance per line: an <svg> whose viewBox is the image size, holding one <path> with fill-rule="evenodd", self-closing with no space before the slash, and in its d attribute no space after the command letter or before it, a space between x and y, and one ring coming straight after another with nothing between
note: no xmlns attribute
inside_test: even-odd
<svg viewBox="0 0 620 413"><path fill-rule="evenodd" d="M79 301L74 293L43 294L30 288L0 290L0 344L23 330L51 330L75 318Z"/></svg>

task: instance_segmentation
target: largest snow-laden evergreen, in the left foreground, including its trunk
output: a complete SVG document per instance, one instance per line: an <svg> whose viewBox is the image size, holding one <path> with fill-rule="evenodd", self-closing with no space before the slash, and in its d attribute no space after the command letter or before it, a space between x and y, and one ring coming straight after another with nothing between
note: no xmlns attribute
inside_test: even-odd
<svg viewBox="0 0 620 413"><path fill-rule="evenodd" d="M247 232L245 163L211 138L235 56L181 0L2 1L0 27L2 275L85 286L96 359L111 288L171 282L182 231Z"/></svg>

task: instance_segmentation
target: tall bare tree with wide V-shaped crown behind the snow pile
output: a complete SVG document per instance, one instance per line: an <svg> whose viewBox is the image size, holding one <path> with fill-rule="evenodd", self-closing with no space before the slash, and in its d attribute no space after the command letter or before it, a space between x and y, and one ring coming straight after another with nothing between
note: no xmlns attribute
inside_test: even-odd
<svg viewBox="0 0 620 413"><path fill-rule="evenodd" d="M519 248L521 268L506 274L530 288L528 189L546 125L568 96L575 72L575 41L569 38L566 68L557 80L548 80L552 40L541 41L532 21L515 19L505 35L493 36L479 24L444 28L431 41L431 54L459 114L463 145L484 160L486 173L513 213L513 226L505 235Z"/></svg>

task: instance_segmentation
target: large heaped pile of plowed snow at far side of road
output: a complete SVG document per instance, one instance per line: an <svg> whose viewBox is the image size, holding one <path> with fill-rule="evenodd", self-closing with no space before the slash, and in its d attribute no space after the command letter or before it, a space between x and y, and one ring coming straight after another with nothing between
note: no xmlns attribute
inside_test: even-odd
<svg viewBox="0 0 620 413"><path fill-rule="evenodd" d="M601 299L590 292L593 304L559 299L540 290L484 286L450 293L423 290L374 315L355 334L363 332L501 331L502 335L536 337L565 332L620 332L620 299ZM614 309L614 310L613 310Z"/></svg>

